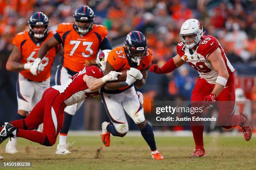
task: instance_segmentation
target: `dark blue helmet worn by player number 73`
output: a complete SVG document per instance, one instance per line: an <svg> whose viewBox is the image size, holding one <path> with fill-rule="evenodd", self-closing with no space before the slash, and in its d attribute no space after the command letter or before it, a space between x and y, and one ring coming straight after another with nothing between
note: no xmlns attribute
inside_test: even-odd
<svg viewBox="0 0 256 170"><path fill-rule="evenodd" d="M90 30L92 30L93 22L95 19L95 15L92 8L86 5L79 7L75 11L73 16L74 16L74 27L77 30L77 32L81 34L86 34ZM78 22L87 22L89 24L79 26Z"/></svg>

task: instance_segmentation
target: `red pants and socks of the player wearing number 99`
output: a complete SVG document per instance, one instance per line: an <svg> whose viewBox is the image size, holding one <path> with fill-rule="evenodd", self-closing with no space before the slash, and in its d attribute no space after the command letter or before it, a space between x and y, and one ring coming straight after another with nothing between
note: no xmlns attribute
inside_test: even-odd
<svg viewBox="0 0 256 170"><path fill-rule="evenodd" d="M234 73L229 76L226 87L222 90L220 95L216 98L219 109L218 124L223 128L232 128L234 126L243 123L244 119L241 115L234 115L235 107L235 75ZM191 96L191 101L203 101L206 95L210 95L215 85L208 83L205 79L200 78ZM230 102L218 102L218 101L230 101ZM198 106L196 106L198 107ZM195 140L196 149L203 147L203 131L204 126L191 125L193 138Z"/></svg>

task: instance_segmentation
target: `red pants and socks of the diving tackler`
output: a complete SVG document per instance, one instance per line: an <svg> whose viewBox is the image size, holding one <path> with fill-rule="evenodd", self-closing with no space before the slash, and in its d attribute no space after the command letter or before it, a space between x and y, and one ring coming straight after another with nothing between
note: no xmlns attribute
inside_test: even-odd
<svg viewBox="0 0 256 170"><path fill-rule="evenodd" d="M10 124L18 128L17 137L26 138L41 145L52 146L62 128L65 107L66 104L59 91L48 88L25 119L15 120ZM33 130L43 122L43 133Z"/></svg>

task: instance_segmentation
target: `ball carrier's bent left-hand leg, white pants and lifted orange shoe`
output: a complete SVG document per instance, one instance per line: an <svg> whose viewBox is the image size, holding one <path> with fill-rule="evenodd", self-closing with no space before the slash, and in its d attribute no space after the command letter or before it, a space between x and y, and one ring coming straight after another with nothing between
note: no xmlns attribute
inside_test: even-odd
<svg viewBox="0 0 256 170"><path fill-rule="evenodd" d="M128 122L125 117L125 112L121 101L124 98L124 94L108 94L100 92L100 97L104 104L105 110L108 114L113 125L108 122L102 123L102 142L104 145L110 145L110 133L113 136L123 137L128 132Z"/></svg>

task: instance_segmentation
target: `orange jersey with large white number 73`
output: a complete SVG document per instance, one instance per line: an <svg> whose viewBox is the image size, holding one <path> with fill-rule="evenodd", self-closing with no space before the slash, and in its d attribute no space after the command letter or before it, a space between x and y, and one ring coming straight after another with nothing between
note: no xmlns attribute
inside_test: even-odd
<svg viewBox="0 0 256 170"><path fill-rule="evenodd" d="M73 23L59 24L54 37L64 47L63 66L79 72L84 68L86 60L96 60L100 43L108 35L108 30L102 25L93 25L90 32L80 35Z"/></svg>

